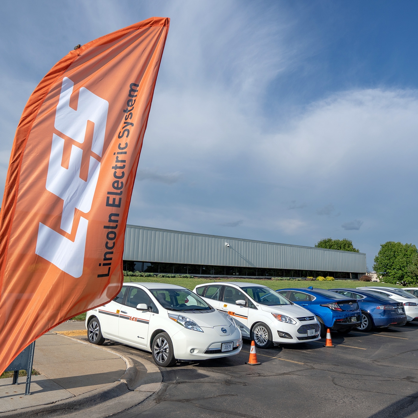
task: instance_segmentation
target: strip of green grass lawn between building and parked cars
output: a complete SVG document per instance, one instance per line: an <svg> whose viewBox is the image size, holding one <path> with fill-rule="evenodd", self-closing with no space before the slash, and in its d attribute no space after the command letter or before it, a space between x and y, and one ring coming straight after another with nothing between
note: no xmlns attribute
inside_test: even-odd
<svg viewBox="0 0 418 418"><path fill-rule="evenodd" d="M125 283L129 282L151 282L151 283L170 283L174 285L180 285L190 290L193 290L196 285L203 283L216 283L224 281L222 280L210 280L205 278L194 278L194 279L183 279L183 278L156 278L156 277L125 277ZM378 282L361 282L359 280L330 280L330 281L305 281L305 280L260 280L260 279L227 279L226 281L234 282L246 282L246 283L257 283L268 286L269 288L285 289L285 288L307 288L313 286L318 289L334 289L334 288L356 288L363 286L390 286L402 288L403 286L388 285L387 283Z"/></svg>

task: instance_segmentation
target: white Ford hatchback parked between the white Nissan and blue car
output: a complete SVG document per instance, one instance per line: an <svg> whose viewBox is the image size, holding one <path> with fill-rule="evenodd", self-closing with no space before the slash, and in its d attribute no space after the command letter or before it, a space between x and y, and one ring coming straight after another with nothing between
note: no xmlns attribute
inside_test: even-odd
<svg viewBox="0 0 418 418"><path fill-rule="evenodd" d="M242 335L259 348L296 344L321 338L316 316L267 286L242 282L198 285L194 292L234 317Z"/></svg>

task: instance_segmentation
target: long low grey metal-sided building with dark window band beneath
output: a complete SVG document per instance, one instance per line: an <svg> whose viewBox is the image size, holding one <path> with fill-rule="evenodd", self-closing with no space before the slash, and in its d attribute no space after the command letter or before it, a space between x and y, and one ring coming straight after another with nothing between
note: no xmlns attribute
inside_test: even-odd
<svg viewBox="0 0 418 418"><path fill-rule="evenodd" d="M127 225L124 270L202 276L357 279L366 254Z"/></svg>

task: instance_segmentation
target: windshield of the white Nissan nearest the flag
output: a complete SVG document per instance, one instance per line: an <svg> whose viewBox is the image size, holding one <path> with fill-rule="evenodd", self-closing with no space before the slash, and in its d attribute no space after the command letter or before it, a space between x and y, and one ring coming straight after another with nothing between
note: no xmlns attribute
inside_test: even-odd
<svg viewBox="0 0 418 418"><path fill-rule="evenodd" d="M171 311L209 311L212 308L188 289L149 289L163 308Z"/></svg>

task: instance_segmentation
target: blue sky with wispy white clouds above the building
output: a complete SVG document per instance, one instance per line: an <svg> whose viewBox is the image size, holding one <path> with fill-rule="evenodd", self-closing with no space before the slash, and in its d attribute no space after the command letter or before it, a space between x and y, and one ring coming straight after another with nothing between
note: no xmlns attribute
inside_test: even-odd
<svg viewBox="0 0 418 418"><path fill-rule="evenodd" d="M0 14L0 182L29 95L78 43L171 27L128 222L373 257L418 244L413 1L22 1Z"/></svg>

